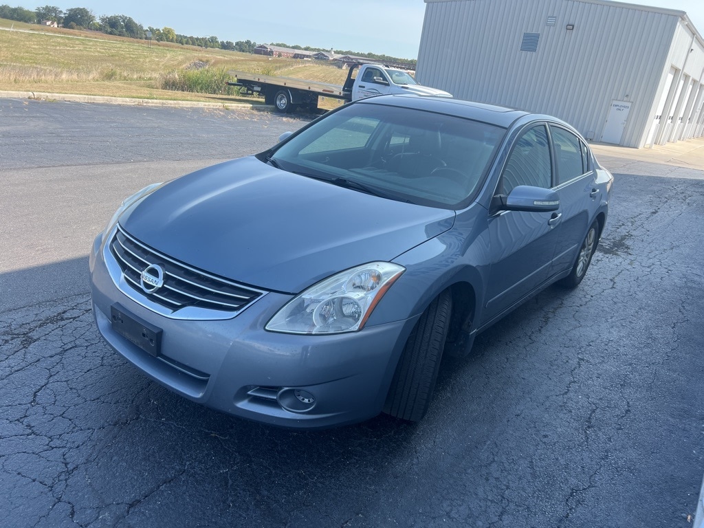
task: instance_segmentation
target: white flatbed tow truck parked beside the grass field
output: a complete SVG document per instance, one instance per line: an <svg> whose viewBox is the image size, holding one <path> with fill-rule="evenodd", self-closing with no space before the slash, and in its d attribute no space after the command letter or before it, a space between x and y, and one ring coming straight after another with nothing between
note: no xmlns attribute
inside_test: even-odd
<svg viewBox="0 0 704 528"><path fill-rule="evenodd" d="M319 96L344 101L382 94L452 97L448 92L418 84L405 70L376 63L351 65L344 86L235 70L228 73L237 80L227 84L244 87L248 94L263 95L265 103L274 105L282 113L291 112L299 106L315 111Z"/></svg>

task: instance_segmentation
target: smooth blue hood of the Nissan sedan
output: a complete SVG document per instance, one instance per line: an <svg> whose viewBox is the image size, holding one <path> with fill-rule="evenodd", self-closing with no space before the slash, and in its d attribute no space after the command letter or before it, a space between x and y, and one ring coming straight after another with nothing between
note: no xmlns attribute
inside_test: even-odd
<svg viewBox="0 0 704 528"><path fill-rule="evenodd" d="M128 208L122 228L171 258L298 293L389 261L452 227L451 210L379 198L241 158L173 180Z"/></svg>

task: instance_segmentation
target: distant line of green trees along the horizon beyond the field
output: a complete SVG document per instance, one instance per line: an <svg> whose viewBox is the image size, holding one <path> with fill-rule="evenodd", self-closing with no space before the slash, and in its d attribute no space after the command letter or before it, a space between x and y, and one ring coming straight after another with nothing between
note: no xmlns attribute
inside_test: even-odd
<svg viewBox="0 0 704 528"><path fill-rule="evenodd" d="M23 7L10 7L6 4L0 6L0 18L7 20L17 20L27 24L41 24L49 20L56 23L60 27L66 27L70 30L90 30L99 31L106 34L117 35L118 37L130 37L132 39L153 39L158 42L175 42L186 46L200 46L201 48L218 48L227 49L230 51L241 51L243 53L253 53L257 46L256 42L251 40L238 40L232 42L230 40L220 40L218 37L193 37L190 35L178 34L171 27L147 27L146 29L134 21L132 17L125 15L103 15L99 18L84 7L74 7L61 10L56 6L38 7L34 11ZM289 46L288 44L272 43L272 46L281 46L284 48L301 49L304 51L330 51L329 49L312 48L310 46ZM415 63L415 60L408 61L388 55L378 55L372 53L359 53L356 51L336 51L341 55L354 55L359 57L372 58L377 61L391 62L410 62Z"/></svg>

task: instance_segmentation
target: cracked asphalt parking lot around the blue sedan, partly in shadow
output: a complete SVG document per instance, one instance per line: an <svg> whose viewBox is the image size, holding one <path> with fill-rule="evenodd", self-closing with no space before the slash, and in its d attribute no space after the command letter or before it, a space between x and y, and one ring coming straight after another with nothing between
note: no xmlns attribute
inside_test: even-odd
<svg viewBox="0 0 704 528"><path fill-rule="evenodd" d="M87 254L122 198L307 119L0 99L0 525L691 526L704 159L597 147L615 191L584 282L544 291L447 360L419 425L243 422L101 341Z"/></svg>

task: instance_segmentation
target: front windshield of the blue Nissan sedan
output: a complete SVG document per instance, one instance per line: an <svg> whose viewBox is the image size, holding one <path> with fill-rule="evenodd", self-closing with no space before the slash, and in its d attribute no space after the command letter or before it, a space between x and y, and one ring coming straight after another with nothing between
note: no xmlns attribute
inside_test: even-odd
<svg viewBox="0 0 704 528"><path fill-rule="evenodd" d="M479 189L504 133L451 115L357 103L314 122L265 159L357 191L453 209Z"/></svg>

